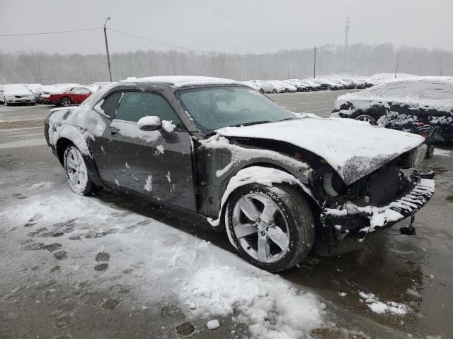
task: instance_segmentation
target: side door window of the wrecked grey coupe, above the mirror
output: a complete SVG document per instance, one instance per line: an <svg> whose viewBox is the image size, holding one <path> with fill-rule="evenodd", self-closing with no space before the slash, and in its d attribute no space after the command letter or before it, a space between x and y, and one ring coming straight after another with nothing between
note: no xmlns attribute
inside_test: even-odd
<svg viewBox="0 0 453 339"><path fill-rule="evenodd" d="M179 117L161 95L145 92L125 92L115 119L137 122L142 117L147 116L171 120L173 124L180 126Z"/></svg>

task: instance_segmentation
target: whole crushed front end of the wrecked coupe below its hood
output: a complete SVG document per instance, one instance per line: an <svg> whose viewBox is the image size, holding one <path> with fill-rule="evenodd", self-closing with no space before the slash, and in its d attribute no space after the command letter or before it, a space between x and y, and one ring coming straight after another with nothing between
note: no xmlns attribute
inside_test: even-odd
<svg viewBox="0 0 453 339"><path fill-rule="evenodd" d="M333 238L364 239L367 234L391 227L411 217L410 227L401 227L401 234L415 234L412 222L415 213L430 201L435 192L434 172L405 174L407 162L416 154L401 156L350 186L341 186L338 178L323 178L331 194L321 210L321 223L331 227ZM337 182L336 182L337 181ZM340 193L338 193L340 192ZM334 196L333 196L334 195Z"/></svg>

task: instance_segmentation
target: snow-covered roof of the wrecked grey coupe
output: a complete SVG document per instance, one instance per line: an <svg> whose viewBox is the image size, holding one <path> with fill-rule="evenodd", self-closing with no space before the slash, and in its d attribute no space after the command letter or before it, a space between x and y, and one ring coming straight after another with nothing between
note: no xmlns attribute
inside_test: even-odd
<svg viewBox="0 0 453 339"><path fill-rule="evenodd" d="M241 85L239 81L210 76L147 76L145 78L127 78L121 83L163 83L176 88L195 85Z"/></svg>

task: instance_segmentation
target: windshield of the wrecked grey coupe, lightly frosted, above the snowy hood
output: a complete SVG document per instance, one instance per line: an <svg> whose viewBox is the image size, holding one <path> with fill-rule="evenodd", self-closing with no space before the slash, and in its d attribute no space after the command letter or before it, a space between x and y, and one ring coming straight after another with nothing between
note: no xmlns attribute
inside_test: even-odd
<svg viewBox="0 0 453 339"><path fill-rule="evenodd" d="M205 134L226 126L294 119L291 112L251 88L196 88L177 95Z"/></svg>

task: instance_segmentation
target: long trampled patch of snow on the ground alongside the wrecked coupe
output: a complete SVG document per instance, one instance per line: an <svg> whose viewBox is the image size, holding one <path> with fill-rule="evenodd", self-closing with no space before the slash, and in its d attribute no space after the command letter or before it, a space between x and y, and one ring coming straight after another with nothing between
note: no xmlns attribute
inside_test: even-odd
<svg viewBox="0 0 453 339"><path fill-rule="evenodd" d="M18 239L28 234L25 249L57 258L64 280L98 272L99 287L114 279L140 288L143 307L173 296L189 319L234 316L253 338L301 338L326 323L316 295L210 242L95 197L55 190L52 182L23 187L23 194L1 211L8 225L2 231Z"/></svg>

